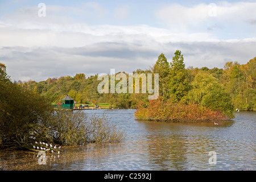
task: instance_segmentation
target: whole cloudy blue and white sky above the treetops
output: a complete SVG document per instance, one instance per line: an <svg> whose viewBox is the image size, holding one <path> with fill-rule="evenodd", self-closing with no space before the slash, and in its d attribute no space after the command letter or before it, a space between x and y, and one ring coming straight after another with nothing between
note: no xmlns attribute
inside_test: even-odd
<svg viewBox="0 0 256 182"><path fill-rule="evenodd" d="M132 73L176 50L186 68L246 64L256 56L255 9L256 1L0 0L0 63L12 81L37 82Z"/></svg>

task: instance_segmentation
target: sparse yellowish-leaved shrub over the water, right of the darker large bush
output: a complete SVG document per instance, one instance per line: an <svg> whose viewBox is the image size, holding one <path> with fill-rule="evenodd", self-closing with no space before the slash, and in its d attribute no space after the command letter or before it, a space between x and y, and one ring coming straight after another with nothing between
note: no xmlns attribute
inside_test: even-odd
<svg viewBox="0 0 256 182"><path fill-rule="evenodd" d="M124 133L106 115L88 117L84 111L57 110L51 136L55 143L73 146L88 142L121 142Z"/></svg>

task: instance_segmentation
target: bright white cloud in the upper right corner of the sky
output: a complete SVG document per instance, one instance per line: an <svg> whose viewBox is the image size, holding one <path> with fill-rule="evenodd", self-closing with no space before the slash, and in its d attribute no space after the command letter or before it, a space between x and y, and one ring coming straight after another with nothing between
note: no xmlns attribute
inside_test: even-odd
<svg viewBox="0 0 256 182"><path fill-rule="evenodd" d="M256 18L255 9L256 2L202 3L192 7L171 4L155 11L155 15L174 32L205 32L216 23L225 31L237 32L241 26L251 25L248 22Z"/></svg>

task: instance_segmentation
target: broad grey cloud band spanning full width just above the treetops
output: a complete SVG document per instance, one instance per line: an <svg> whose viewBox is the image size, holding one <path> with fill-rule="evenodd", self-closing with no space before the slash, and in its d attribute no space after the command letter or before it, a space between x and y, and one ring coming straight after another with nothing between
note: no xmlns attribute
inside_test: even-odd
<svg viewBox="0 0 256 182"><path fill-rule="evenodd" d="M169 42L160 44L152 51L141 49L139 44L103 42L85 47L2 47L0 61L7 66L12 80L42 81L48 77L86 76L96 73L131 73L136 69L148 69L160 53L170 62L176 49L184 55L186 67L223 68L226 60L246 64L255 57L256 42Z"/></svg>

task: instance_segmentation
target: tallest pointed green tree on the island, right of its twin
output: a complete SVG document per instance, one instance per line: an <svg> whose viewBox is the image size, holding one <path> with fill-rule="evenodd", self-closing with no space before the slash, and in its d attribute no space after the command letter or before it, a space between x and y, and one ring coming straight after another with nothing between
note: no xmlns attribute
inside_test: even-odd
<svg viewBox="0 0 256 182"><path fill-rule="evenodd" d="M188 92L187 73L183 55L177 50L172 57L169 77L169 92L172 101L180 101Z"/></svg>

